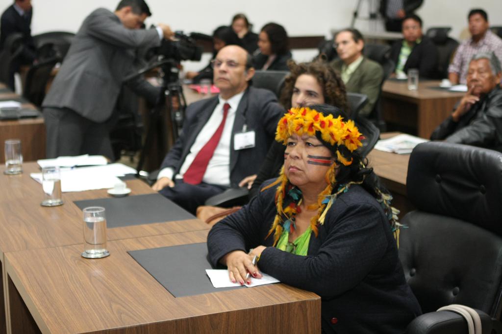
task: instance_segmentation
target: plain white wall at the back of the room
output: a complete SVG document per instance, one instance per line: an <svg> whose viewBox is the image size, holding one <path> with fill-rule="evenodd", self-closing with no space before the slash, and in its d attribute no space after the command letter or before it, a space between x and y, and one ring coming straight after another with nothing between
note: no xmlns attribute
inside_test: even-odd
<svg viewBox="0 0 502 334"><path fill-rule="evenodd" d="M13 1L0 0L0 10ZM230 23L238 12L245 13L258 31L264 24L274 21L282 24L291 36L325 35L330 37L331 29L350 25L357 0L147 0L153 15L147 25L165 22L174 30L201 32L210 35L220 25ZM361 2L360 17L367 16L368 7L376 8L378 0ZM118 0L32 0L34 17L32 33L47 31L76 32L83 19L95 8L113 10ZM500 0L424 0L418 14L424 20L424 28L430 26L453 27L450 36L458 39L466 28L466 15L473 7L488 12L492 25L502 26L502 1ZM372 28L367 21L357 20L361 30ZM379 23L376 29L383 30ZM309 60L315 51L294 52L297 61ZM204 61L203 64L206 62ZM190 64L200 67L198 64Z"/></svg>

